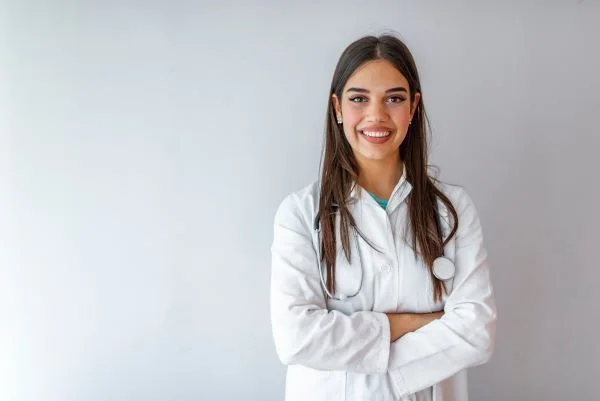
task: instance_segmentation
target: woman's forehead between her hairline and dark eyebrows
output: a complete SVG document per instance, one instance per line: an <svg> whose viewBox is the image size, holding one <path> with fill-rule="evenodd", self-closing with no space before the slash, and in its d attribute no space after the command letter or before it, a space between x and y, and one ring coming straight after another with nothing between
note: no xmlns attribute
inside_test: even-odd
<svg viewBox="0 0 600 401"><path fill-rule="evenodd" d="M396 86L408 89L408 81L400 71L387 60L367 61L354 71L346 82L347 88L363 88L372 92L382 91Z"/></svg>

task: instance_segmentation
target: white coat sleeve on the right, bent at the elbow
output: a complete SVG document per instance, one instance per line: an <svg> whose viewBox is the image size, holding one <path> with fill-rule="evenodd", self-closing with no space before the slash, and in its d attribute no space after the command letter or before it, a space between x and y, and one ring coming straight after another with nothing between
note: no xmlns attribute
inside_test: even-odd
<svg viewBox="0 0 600 401"><path fill-rule="evenodd" d="M398 398L428 388L492 355L496 306L473 202L461 189L456 272L444 315L392 343L388 374Z"/></svg>

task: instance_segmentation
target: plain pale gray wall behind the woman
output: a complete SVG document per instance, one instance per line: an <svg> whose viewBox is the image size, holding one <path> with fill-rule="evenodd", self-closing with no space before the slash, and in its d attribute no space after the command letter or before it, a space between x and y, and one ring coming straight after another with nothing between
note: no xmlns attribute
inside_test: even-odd
<svg viewBox="0 0 600 401"><path fill-rule="evenodd" d="M2 1L0 400L281 400L273 214L316 178L340 52L385 29L484 225L500 318L472 399L597 399L599 20L583 0Z"/></svg>

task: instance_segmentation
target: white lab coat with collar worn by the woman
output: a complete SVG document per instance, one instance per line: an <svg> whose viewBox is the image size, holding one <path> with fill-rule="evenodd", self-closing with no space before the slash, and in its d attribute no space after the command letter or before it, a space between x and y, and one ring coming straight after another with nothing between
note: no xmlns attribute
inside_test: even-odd
<svg viewBox="0 0 600 401"><path fill-rule="evenodd" d="M336 294L326 299L317 265L314 219L318 185L287 196L275 215L271 267L271 322L275 348L288 365L286 401L465 401L466 368L489 360L496 307L473 202L460 187L439 184L459 215L459 229L445 256L456 265L449 295L433 302L429 272L407 243L407 197L402 176L386 210L355 186L350 211L359 230L381 250L351 236L352 263L338 235ZM448 213L440 202L445 234ZM339 223L339 222L338 222ZM339 224L338 224L339 230ZM358 245L357 245L358 244ZM324 273L326 269L323 268ZM444 316L390 344L384 312L431 312Z"/></svg>

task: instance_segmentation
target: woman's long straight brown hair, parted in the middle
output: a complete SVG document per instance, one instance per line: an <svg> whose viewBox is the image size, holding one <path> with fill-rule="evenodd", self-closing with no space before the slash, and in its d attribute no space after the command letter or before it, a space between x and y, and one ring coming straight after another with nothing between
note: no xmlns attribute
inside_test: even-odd
<svg viewBox="0 0 600 401"><path fill-rule="evenodd" d="M400 159L406 169L406 178L412 185L408 197L409 224L412 247L425 261L433 282L433 298L441 299L446 288L433 274L433 261L444 253L444 245L458 229L458 216L450 200L434 185L435 178L427 171L427 115L423 103L423 93L415 61L406 45L392 35L379 37L366 36L351 43L342 53L337 63L331 90L325 128L325 146L321 159L321 190L319 195L319 223L321 226L322 262L327 266L327 288L335 289L336 260L336 215L340 219L342 247L348 260L350 255L349 230L355 221L348 209L348 198L352 185L358 179L359 167L348 143L343 128L336 124L335 107L332 96L342 99L342 91L353 72L367 61L384 59L400 71L409 84L411 106L414 94L421 94L412 123L406 138L400 145ZM437 218L437 200L440 200L453 217L450 235L442 242L442 228Z"/></svg>

